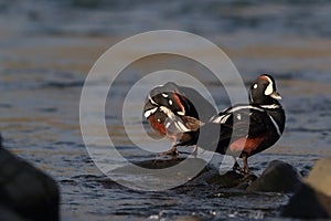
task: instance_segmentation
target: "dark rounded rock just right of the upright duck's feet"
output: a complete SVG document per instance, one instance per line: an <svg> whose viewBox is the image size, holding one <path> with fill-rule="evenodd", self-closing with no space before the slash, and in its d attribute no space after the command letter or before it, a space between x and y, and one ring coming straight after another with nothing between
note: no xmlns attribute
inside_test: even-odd
<svg viewBox="0 0 331 221"><path fill-rule="evenodd" d="M267 169L257 178L247 191L265 192L293 192L301 183L301 178L296 168L291 165L274 160Z"/></svg>

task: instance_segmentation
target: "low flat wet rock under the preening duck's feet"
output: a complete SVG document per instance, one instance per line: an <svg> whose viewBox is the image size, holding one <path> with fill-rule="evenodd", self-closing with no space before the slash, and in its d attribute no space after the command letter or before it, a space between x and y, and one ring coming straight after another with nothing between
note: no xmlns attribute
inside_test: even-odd
<svg viewBox="0 0 331 221"><path fill-rule="evenodd" d="M162 191L194 180L206 164L200 158L151 159L109 170L107 176L132 189Z"/></svg>

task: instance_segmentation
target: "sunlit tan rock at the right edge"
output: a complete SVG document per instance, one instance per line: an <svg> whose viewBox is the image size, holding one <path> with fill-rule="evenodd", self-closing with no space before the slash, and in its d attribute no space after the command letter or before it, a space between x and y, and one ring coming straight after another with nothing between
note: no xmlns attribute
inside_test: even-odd
<svg viewBox="0 0 331 221"><path fill-rule="evenodd" d="M331 197L331 158L320 159L309 172L306 183Z"/></svg>

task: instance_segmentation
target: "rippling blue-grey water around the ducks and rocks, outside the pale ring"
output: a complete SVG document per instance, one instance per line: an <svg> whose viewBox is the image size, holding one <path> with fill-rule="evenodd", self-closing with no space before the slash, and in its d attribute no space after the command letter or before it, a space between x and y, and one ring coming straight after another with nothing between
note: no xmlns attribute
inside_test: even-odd
<svg viewBox="0 0 331 221"><path fill-rule="evenodd" d="M107 179L82 140L81 90L96 59L124 38L154 29L201 34L226 52L247 83L259 73L271 73L284 97L285 134L275 147L249 159L252 170L258 175L268 161L281 159L307 175L317 159L331 156L330 12L328 1L0 2L0 130L4 146L58 181L63 220L275 218L288 196L213 189L194 182L140 192ZM134 160L153 156L130 147L121 131L119 110L111 105L119 104L125 90L145 73L164 66L200 77L205 72L192 61L147 57L125 71L107 102L108 128L118 131L118 148ZM206 84L217 106L226 107L227 96L220 85ZM152 147L138 127L141 119L132 117L130 127L136 136ZM167 140L156 143L160 151L169 145Z"/></svg>

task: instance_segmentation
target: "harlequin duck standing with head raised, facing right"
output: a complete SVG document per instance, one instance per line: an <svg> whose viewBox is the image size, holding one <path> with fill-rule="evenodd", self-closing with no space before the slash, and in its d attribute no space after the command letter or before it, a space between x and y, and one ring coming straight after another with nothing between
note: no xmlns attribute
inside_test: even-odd
<svg viewBox="0 0 331 221"><path fill-rule="evenodd" d="M278 102L281 97L273 76L258 76L249 87L248 96L249 104L229 107L202 126L202 139L177 146L199 141L199 147L203 149L241 157L244 168L239 167L236 159L233 168L248 175L247 158L271 147L280 138L286 120L284 108ZM210 139L211 131L215 129L218 129L220 137L216 140Z"/></svg>

